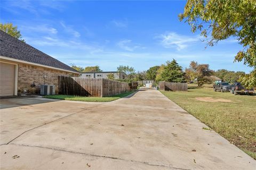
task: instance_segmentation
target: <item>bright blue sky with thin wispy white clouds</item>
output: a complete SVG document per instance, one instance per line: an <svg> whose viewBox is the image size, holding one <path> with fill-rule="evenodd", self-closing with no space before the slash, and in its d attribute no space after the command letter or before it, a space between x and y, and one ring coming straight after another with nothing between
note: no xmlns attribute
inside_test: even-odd
<svg viewBox="0 0 256 170"><path fill-rule="evenodd" d="M236 39L207 47L199 32L180 22L186 1L1 1L1 23L18 25L26 43L78 66L99 65L115 71L130 65L137 71L174 58L183 67L190 61L210 69L249 72L233 63Z"/></svg>

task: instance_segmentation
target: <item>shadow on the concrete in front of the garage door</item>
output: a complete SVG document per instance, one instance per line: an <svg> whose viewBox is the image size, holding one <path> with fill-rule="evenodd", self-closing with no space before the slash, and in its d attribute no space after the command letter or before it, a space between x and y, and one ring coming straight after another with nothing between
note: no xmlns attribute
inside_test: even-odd
<svg viewBox="0 0 256 170"><path fill-rule="evenodd" d="M41 104L41 103L49 103L49 102L53 102L53 101L59 101L59 100L46 99L46 98L43 98L42 96L1 97L0 109L19 107L19 106L27 106L27 105L35 105L35 104Z"/></svg>

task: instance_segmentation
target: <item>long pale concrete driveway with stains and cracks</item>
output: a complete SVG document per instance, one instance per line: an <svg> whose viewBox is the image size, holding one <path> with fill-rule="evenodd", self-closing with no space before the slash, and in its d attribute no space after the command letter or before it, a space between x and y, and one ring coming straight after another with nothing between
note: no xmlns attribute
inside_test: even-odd
<svg viewBox="0 0 256 170"><path fill-rule="evenodd" d="M109 103L49 100L0 112L1 169L256 168L153 89Z"/></svg>

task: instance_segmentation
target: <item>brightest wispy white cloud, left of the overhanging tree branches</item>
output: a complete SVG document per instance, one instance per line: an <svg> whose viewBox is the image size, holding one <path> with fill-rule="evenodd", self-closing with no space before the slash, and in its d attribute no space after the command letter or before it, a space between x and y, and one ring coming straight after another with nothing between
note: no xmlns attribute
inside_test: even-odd
<svg viewBox="0 0 256 170"><path fill-rule="evenodd" d="M155 38L161 39L161 44L165 48L176 48L177 50L184 49L190 43L199 41L198 37L188 37L188 36L178 35L175 32L164 33Z"/></svg>

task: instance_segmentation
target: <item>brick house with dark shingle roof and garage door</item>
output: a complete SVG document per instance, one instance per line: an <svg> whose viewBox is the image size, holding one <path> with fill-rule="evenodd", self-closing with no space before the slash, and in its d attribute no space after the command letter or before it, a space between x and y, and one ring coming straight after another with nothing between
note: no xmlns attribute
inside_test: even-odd
<svg viewBox="0 0 256 170"><path fill-rule="evenodd" d="M79 75L70 66L1 30L0 49L0 96L39 94L41 84L55 85L58 94L59 75Z"/></svg>

